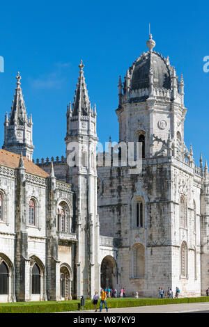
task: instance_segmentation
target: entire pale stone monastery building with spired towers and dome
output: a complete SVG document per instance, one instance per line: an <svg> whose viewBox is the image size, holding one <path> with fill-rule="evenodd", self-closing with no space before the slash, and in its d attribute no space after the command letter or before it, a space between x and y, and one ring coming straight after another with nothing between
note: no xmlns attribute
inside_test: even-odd
<svg viewBox="0 0 209 327"><path fill-rule="evenodd" d="M183 75L148 51L118 83L119 142L142 149L142 170L97 164L96 109L84 65L68 106L66 157L33 162L33 122L17 74L0 150L0 301L67 300L101 287L157 296L158 287L200 296L209 286L207 163L184 143ZM78 144L75 165L69 146ZM100 162L101 163L101 162ZM102 232L102 235L100 234Z"/></svg>

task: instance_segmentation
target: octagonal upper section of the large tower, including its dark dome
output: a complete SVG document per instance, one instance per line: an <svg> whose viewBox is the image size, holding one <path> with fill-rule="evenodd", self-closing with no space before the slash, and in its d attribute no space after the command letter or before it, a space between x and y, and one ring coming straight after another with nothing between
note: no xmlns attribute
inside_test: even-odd
<svg viewBox="0 0 209 327"><path fill-rule="evenodd" d="M183 75L178 81L169 57L153 50L155 41L151 34L146 45L148 51L132 63L123 83L119 77L119 139L141 142L144 158L167 156L172 150L175 157L183 160L187 113Z"/></svg>

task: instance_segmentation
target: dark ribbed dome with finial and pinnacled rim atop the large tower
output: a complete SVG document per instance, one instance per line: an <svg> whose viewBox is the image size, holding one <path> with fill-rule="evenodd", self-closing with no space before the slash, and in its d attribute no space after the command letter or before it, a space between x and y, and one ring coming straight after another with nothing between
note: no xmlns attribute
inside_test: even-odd
<svg viewBox="0 0 209 327"><path fill-rule="evenodd" d="M162 54L153 51L155 41L151 34L146 45L149 50L132 63L123 86L121 77L119 79L119 106L127 102L145 101L150 95L170 99L177 96L178 77L169 63L169 57L164 58Z"/></svg>

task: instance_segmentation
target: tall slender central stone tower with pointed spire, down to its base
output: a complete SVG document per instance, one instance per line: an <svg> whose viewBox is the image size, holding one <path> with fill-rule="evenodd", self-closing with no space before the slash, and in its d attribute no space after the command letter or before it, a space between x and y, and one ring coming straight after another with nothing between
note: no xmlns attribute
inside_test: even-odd
<svg viewBox="0 0 209 327"><path fill-rule="evenodd" d="M79 64L79 78L73 104L67 110L66 157L70 184L76 193L77 221L77 298L90 298L100 289L98 249L100 225L97 214L96 106L88 97L84 64Z"/></svg>

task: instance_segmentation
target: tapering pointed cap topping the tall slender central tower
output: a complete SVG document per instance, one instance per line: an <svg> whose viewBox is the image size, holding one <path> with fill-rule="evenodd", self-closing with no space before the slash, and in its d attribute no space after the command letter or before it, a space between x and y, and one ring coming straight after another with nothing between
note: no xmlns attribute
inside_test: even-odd
<svg viewBox="0 0 209 327"><path fill-rule="evenodd" d="M75 90L75 97L72 104L73 112L72 115L77 115L79 112L81 115L88 114L89 108L89 97L88 90L86 89L86 83L84 78L84 64L83 61L79 64L79 78L77 83L77 89Z"/></svg>

